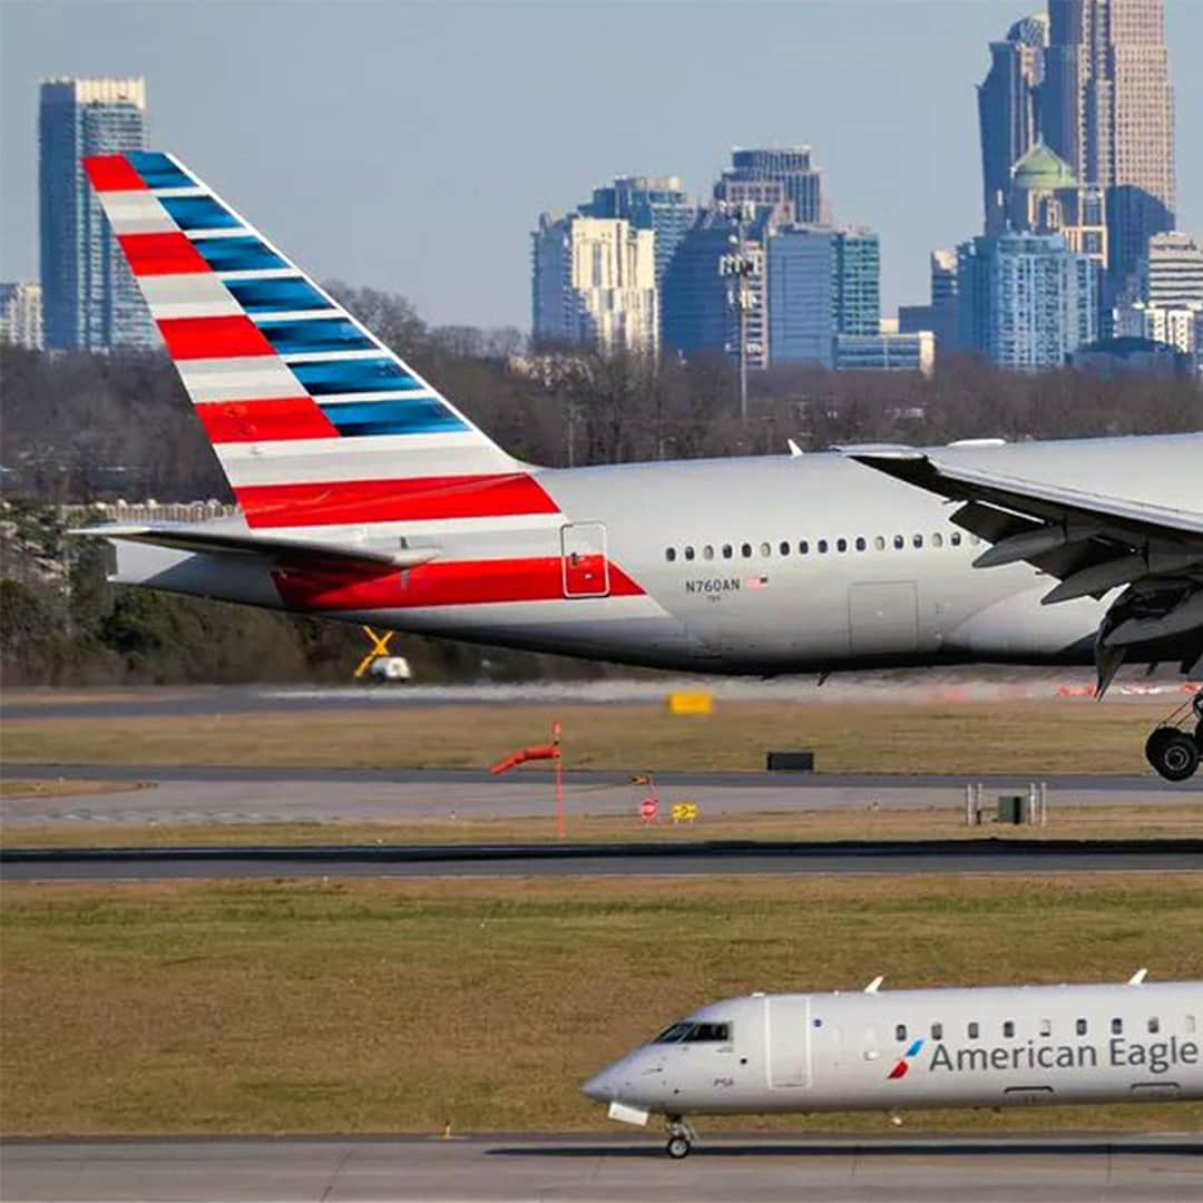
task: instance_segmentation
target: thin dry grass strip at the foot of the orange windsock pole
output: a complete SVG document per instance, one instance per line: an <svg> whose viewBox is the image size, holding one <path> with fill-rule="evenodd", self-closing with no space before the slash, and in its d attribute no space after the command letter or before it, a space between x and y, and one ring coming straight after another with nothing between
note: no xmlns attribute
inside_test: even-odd
<svg viewBox="0 0 1203 1203"><path fill-rule="evenodd" d="M573 842L693 840L1152 840L1203 836L1203 802L1055 807L1047 826L965 826L954 807L928 811L790 811L703 814L697 823L642 824L633 816L571 816ZM0 826L5 848L166 848L179 845L555 843L550 818L410 819L362 823L76 823Z"/></svg>

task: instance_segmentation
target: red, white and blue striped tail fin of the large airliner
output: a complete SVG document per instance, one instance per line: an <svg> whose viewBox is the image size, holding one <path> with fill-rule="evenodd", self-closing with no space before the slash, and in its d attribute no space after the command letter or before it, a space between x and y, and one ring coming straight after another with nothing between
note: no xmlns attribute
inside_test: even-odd
<svg viewBox="0 0 1203 1203"><path fill-rule="evenodd" d="M555 511L526 466L173 155L84 168L249 526Z"/></svg>

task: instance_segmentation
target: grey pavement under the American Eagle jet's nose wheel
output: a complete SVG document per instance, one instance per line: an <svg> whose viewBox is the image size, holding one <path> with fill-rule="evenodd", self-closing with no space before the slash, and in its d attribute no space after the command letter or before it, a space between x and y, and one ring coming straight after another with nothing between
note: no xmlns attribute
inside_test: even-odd
<svg viewBox="0 0 1203 1203"><path fill-rule="evenodd" d="M1203 1197L1197 1134L707 1140L656 1137L32 1140L0 1145L8 1203L712 1199L1079 1203Z"/></svg>

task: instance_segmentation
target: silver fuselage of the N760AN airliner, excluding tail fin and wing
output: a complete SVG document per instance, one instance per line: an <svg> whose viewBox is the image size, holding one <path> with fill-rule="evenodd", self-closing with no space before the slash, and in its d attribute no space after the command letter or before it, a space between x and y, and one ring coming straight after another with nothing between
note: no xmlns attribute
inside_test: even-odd
<svg viewBox="0 0 1203 1203"><path fill-rule="evenodd" d="M1192 509L1203 439L952 448L1025 479ZM294 527L340 546L437 545L383 571L119 547L115 580L331 618L677 670L786 674L1090 663L1104 600L1041 605L1027 564L973 569L956 506L840 455L532 469L547 512Z"/></svg>

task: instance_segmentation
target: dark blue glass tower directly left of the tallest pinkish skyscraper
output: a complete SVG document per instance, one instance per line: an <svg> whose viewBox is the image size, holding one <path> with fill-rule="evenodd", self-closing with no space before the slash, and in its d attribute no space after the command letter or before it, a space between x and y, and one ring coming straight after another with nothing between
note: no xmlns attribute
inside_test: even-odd
<svg viewBox="0 0 1203 1203"><path fill-rule="evenodd" d="M990 43L990 71L978 85L985 232L1007 225L1011 170L1039 141L1039 89L1049 20L1043 13L1017 20Z"/></svg>

